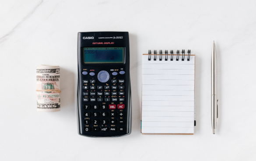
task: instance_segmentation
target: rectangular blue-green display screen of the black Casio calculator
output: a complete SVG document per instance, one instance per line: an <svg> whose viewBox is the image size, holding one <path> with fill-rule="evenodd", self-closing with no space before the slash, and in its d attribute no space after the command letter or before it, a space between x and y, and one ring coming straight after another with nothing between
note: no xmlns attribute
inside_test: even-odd
<svg viewBox="0 0 256 161"><path fill-rule="evenodd" d="M83 48L84 63L123 63L123 47Z"/></svg>

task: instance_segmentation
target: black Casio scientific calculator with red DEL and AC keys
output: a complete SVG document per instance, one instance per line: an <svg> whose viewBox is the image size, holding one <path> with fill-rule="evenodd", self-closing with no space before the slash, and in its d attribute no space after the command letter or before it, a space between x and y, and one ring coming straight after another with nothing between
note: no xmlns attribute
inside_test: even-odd
<svg viewBox="0 0 256 161"><path fill-rule="evenodd" d="M120 137L131 133L128 32L79 32L78 133Z"/></svg>

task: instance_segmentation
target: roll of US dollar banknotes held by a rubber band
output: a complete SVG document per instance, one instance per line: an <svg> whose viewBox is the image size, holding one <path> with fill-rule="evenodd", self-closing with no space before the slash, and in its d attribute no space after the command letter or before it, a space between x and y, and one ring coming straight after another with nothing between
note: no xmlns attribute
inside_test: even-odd
<svg viewBox="0 0 256 161"><path fill-rule="evenodd" d="M36 67L37 111L60 111L60 66Z"/></svg>

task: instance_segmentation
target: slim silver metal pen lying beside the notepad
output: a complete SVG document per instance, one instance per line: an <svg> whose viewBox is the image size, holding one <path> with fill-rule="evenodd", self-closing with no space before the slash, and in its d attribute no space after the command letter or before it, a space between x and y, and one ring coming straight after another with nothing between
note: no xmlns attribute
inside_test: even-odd
<svg viewBox="0 0 256 161"><path fill-rule="evenodd" d="M214 134L218 119L217 102L217 53L215 43L213 43L211 51L211 126Z"/></svg>

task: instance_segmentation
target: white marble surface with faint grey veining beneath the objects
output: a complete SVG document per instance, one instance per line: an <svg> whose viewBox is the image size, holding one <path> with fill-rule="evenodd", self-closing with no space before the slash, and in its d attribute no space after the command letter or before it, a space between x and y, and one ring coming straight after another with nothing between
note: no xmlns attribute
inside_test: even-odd
<svg viewBox="0 0 256 161"><path fill-rule="evenodd" d="M1 0L1 161L254 161L256 1ZM132 133L77 134L77 32L129 31ZM210 52L218 51L219 123L210 124ZM140 133L141 54L196 53L193 136ZM35 66L61 66L61 111L37 112Z"/></svg>

